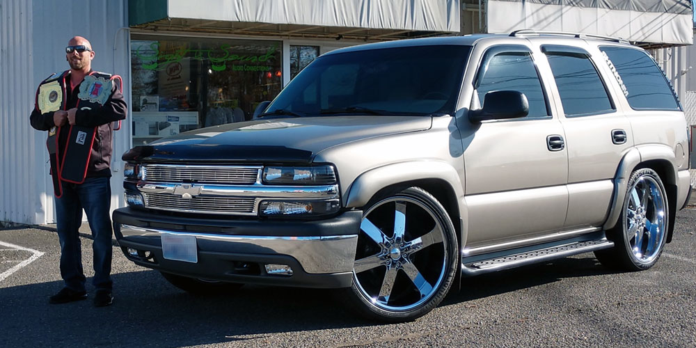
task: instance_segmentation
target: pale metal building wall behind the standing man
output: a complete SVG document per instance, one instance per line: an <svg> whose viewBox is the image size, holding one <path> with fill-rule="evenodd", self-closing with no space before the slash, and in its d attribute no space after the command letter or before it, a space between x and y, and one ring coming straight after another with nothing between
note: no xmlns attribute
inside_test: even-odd
<svg viewBox="0 0 696 348"><path fill-rule="evenodd" d="M29 125L35 90L49 74L69 68L65 46L74 35L92 43L93 69L120 74L127 90L126 1L0 1L0 221L55 222L47 134ZM114 134L112 209L122 205L120 155L129 148L129 134L129 122Z"/></svg>

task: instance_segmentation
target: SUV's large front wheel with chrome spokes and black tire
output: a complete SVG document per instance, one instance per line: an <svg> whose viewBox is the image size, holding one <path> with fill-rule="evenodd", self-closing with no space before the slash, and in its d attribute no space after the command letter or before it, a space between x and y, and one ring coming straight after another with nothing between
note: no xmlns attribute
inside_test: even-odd
<svg viewBox="0 0 696 348"><path fill-rule="evenodd" d="M445 208L411 187L363 213L349 298L359 312L387 322L429 313L457 271L457 237Z"/></svg>

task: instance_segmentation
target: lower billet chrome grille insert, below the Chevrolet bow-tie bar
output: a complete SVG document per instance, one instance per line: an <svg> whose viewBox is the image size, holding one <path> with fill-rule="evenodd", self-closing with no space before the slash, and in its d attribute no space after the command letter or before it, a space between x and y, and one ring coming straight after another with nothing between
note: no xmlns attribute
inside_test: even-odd
<svg viewBox="0 0 696 348"><path fill-rule="evenodd" d="M145 207L209 214L253 213L254 198L196 196L182 198L168 193L143 193Z"/></svg>

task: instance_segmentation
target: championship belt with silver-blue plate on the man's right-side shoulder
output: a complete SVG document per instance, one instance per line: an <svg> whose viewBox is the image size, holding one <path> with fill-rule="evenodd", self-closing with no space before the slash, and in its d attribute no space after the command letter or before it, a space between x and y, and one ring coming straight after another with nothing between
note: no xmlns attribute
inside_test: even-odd
<svg viewBox="0 0 696 348"><path fill-rule="evenodd" d="M88 74L80 84L77 109L101 109L111 97L114 77L101 72ZM61 180L75 184L84 182L97 129L98 127L70 126L59 171Z"/></svg>

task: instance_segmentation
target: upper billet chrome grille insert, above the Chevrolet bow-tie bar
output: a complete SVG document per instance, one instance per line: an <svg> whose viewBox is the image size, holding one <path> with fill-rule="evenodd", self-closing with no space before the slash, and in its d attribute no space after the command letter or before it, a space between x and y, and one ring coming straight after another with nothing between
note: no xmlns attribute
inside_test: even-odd
<svg viewBox="0 0 696 348"><path fill-rule="evenodd" d="M143 180L149 182L200 182L209 184L251 185L261 167L250 166L143 166Z"/></svg>

